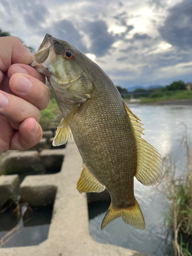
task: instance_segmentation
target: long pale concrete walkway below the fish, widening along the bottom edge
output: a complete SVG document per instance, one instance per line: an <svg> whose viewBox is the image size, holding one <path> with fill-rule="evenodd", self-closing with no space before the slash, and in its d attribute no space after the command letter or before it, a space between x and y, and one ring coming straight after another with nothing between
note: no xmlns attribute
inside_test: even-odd
<svg viewBox="0 0 192 256"><path fill-rule="evenodd" d="M80 195L76 190L82 159L74 142L68 144L63 151L65 151L65 160L61 172L44 176L44 179L49 176L52 184L57 186L48 239L38 246L1 248L0 255L146 256L115 245L100 244L90 237L87 197L85 194ZM33 184L35 181L28 182Z"/></svg>

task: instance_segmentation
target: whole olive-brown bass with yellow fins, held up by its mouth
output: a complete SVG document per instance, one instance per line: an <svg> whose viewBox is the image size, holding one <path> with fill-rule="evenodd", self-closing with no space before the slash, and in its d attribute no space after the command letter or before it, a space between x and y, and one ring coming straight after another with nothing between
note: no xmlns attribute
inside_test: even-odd
<svg viewBox="0 0 192 256"><path fill-rule="evenodd" d="M101 229L119 217L144 229L134 177L145 186L155 185L163 164L157 150L141 138L141 120L110 77L67 41L46 34L31 66L47 76L63 115L53 145L74 139L83 159L77 190L100 193L106 188L111 195Z"/></svg>

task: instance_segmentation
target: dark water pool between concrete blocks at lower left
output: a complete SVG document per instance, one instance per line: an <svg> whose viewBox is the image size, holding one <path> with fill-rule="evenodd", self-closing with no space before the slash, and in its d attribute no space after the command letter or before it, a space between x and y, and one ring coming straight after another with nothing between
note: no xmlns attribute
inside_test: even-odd
<svg viewBox="0 0 192 256"><path fill-rule="evenodd" d="M7 202L4 207L7 210L1 213L0 218L2 248L38 245L48 238L53 206L37 208L23 204L19 218L14 214L13 202Z"/></svg>

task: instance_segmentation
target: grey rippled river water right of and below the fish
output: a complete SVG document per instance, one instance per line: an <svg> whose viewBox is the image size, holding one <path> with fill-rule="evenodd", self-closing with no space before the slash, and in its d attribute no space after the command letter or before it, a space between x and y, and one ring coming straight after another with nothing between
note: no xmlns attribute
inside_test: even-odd
<svg viewBox="0 0 192 256"><path fill-rule="evenodd" d="M178 173L183 170L185 152L180 146L184 135L185 123L188 132L192 135L192 106L150 106L129 105L132 112L144 124L143 138L152 144L162 157L172 154L176 162ZM110 243L153 256L172 256L172 236L167 234L164 226L164 214L168 207L160 188L143 186L135 179L135 197L142 209L145 218L145 230L138 230L127 226L121 218L116 219L100 230L107 206L91 205L90 234L100 243ZM97 212L95 216L93 212Z"/></svg>

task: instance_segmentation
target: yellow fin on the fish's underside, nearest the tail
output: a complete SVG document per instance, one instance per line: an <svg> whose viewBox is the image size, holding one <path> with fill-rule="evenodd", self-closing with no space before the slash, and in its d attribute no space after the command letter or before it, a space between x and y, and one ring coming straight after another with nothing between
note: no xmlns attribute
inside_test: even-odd
<svg viewBox="0 0 192 256"><path fill-rule="evenodd" d="M89 172L85 164L82 165L82 172L77 182L77 190L83 192L102 192L105 186L102 185L91 172Z"/></svg>

